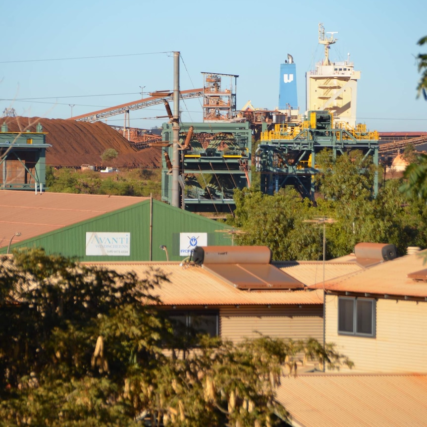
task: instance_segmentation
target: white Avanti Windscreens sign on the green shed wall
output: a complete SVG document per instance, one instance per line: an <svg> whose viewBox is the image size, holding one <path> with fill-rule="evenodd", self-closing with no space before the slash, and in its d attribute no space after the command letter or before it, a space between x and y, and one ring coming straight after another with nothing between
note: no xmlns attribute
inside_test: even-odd
<svg viewBox="0 0 427 427"><path fill-rule="evenodd" d="M86 255L130 255L130 233L86 233Z"/></svg>

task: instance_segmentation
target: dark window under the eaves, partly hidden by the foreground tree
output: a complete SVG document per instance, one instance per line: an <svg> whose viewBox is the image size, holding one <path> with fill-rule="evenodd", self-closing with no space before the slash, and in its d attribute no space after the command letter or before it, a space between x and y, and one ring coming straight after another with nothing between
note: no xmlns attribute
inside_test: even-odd
<svg viewBox="0 0 427 427"><path fill-rule="evenodd" d="M210 336L217 336L219 329L219 316L216 311L170 311L167 313L169 319L175 322L175 332L180 334L179 325L187 331L193 329L196 333L206 333Z"/></svg>

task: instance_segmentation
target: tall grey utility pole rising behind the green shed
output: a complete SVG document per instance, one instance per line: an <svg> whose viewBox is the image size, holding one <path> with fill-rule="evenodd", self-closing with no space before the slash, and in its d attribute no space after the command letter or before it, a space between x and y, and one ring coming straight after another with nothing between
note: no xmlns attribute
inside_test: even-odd
<svg viewBox="0 0 427 427"><path fill-rule="evenodd" d="M179 52L173 53L173 115L172 115L172 206L180 208L179 198Z"/></svg>

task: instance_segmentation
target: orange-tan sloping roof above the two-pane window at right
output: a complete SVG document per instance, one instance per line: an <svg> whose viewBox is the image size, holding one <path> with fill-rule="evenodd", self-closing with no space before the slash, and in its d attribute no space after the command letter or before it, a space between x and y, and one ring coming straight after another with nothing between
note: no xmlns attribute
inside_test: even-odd
<svg viewBox="0 0 427 427"><path fill-rule="evenodd" d="M427 250L419 251L327 280L325 288L340 292L426 298L427 282L408 276L424 269L426 260ZM321 288L322 283L318 283L315 287Z"/></svg>

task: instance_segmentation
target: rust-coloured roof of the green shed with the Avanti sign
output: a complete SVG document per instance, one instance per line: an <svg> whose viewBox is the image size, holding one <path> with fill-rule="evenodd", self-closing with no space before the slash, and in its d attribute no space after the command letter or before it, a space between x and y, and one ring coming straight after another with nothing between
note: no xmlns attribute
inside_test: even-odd
<svg viewBox="0 0 427 427"><path fill-rule="evenodd" d="M147 198L0 190L0 247L140 203Z"/></svg>

